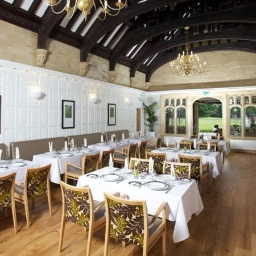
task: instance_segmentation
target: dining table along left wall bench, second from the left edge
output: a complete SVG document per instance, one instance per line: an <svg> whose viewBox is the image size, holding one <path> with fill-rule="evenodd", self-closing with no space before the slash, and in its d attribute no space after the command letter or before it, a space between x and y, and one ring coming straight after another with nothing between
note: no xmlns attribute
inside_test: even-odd
<svg viewBox="0 0 256 256"><path fill-rule="evenodd" d="M53 183L60 184L61 174L65 173L65 163L69 162L81 166L81 159L85 155L97 154L99 150L90 148L76 148L74 150L61 150L57 152L46 152L44 154L34 155L32 162L44 166L51 163L50 180Z"/></svg>

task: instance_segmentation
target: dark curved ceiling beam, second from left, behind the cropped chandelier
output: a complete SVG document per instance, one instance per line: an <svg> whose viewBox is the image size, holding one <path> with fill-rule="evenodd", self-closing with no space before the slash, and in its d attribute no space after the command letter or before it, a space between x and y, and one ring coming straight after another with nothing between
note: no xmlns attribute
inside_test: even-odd
<svg viewBox="0 0 256 256"><path fill-rule="evenodd" d="M109 30L113 30L118 24L125 23L126 20L134 18L135 16L147 13L148 11L155 10L159 7L171 5L178 2L186 2L188 0L148 0L144 3L136 3L133 6L127 7L120 11L118 16L106 18L102 23L100 20L94 22L93 27L90 28L81 47L81 61L86 61L90 50L96 44L97 40L101 38Z"/></svg>

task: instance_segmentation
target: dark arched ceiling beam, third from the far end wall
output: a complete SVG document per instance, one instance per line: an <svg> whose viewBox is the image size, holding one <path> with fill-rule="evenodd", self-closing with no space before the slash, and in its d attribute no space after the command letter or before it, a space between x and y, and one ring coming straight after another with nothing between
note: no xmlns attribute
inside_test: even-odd
<svg viewBox="0 0 256 256"><path fill-rule="evenodd" d="M114 70L115 65L118 63L119 58L125 54L131 47L135 46L139 42L146 40L150 37L160 35L164 32L176 30L176 28L183 28L184 26L195 26L200 24L210 24L219 22L244 22L244 23L256 23L256 9L243 8L219 11L214 13L202 14L192 16L189 18L176 19L170 22L159 24L158 26L152 26L148 28L141 28L138 30L130 29L125 36L119 42L118 46L113 51L110 58L110 70Z"/></svg>

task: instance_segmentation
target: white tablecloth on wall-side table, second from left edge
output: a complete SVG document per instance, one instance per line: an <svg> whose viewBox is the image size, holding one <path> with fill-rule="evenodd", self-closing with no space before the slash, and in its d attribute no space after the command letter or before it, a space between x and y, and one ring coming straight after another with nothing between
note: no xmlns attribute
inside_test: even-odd
<svg viewBox="0 0 256 256"><path fill-rule="evenodd" d="M77 151L71 151L73 154L72 156L68 157L61 157L61 158L55 158L53 155L49 152L45 154L39 154L39 155L34 155L33 156L33 162L40 164L40 166L44 166L46 164L51 163L51 172L50 172L50 180L53 183L60 183L60 175L64 174L65 172L65 163L73 163L76 164L77 166L81 166L81 158L84 155L92 155L96 154L99 152L98 150L90 151L90 152L85 152L81 151L80 153ZM60 155L61 156L61 155Z"/></svg>

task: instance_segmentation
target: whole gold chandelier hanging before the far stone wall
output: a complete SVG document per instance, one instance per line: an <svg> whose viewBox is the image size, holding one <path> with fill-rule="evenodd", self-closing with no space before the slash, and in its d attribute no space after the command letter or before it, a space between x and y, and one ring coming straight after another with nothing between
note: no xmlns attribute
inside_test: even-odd
<svg viewBox="0 0 256 256"><path fill-rule="evenodd" d="M195 75L203 73L205 71L206 61L204 61L204 65L201 65L199 56L197 54L193 55L192 51L190 55L188 53L188 29L188 26L184 27L187 35L186 52L183 51L182 55L180 55L179 53L176 61L171 61L170 63L172 73L179 76L183 73L185 73L185 75Z"/></svg>

